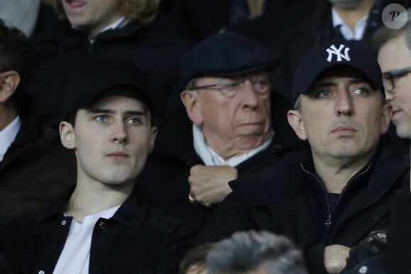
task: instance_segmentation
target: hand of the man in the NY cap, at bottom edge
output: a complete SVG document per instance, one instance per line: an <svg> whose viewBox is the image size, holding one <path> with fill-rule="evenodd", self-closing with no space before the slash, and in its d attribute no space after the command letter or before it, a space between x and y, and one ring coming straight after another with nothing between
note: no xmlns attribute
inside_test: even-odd
<svg viewBox="0 0 411 274"><path fill-rule="evenodd" d="M349 247L340 244L326 246L324 251L324 266L328 273L340 273L349 256Z"/></svg>

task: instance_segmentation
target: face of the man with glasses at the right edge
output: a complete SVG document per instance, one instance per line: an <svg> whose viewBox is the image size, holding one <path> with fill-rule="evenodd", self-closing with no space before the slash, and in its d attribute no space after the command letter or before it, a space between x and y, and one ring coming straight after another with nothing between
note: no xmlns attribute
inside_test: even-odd
<svg viewBox="0 0 411 274"><path fill-rule="evenodd" d="M405 35L388 40L378 51L378 63L381 71L393 72L411 66L411 51L405 41ZM386 78L386 77L385 77ZM387 81L388 79L385 79ZM393 105L391 120L400 137L411 138L411 73L400 74L393 79L392 91L385 91L386 100ZM392 84L390 84L392 86Z"/></svg>

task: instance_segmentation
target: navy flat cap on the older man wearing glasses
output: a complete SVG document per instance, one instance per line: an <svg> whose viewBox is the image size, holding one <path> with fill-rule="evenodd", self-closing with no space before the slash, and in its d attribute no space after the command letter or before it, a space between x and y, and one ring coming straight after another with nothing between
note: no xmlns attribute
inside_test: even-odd
<svg viewBox="0 0 411 274"><path fill-rule="evenodd" d="M271 69L278 58L264 45L237 33L218 33L188 50L180 62L181 84L200 76L235 76Z"/></svg>

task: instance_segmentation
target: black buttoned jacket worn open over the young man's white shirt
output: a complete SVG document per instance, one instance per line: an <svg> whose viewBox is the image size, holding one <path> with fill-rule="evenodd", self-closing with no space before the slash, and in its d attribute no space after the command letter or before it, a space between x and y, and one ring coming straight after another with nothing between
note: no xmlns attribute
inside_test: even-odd
<svg viewBox="0 0 411 274"><path fill-rule="evenodd" d="M0 253L12 273L52 273L72 222L63 215L72 190L40 215L0 219ZM147 205L135 190L113 217L96 222L89 273L178 273L194 232Z"/></svg>

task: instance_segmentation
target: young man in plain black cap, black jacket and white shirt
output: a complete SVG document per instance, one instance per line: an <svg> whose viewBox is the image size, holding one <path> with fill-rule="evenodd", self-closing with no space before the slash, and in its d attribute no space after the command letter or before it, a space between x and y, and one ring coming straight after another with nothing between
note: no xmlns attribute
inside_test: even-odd
<svg viewBox="0 0 411 274"><path fill-rule="evenodd" d="M191 229L147 205L134 188L157 135L150 94L145 76L120 60L77 72L60 122L62 144L76 155L77 185L34 223L2 227L0 249L13 270L178 271Z"/></svg>

